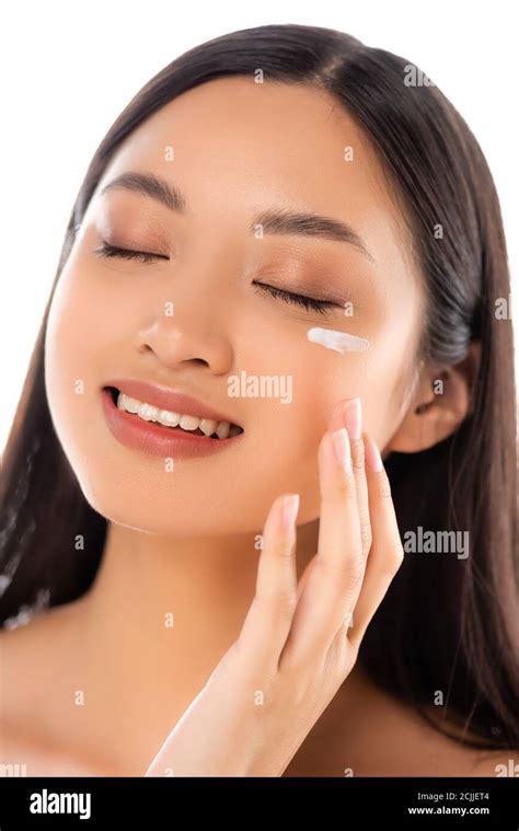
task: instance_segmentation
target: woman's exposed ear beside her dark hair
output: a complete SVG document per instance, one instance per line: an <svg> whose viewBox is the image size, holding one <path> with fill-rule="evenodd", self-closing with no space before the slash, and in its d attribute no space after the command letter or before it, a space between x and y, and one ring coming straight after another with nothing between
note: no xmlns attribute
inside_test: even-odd
<svg viewBox="0 0 519 831"><path fill-rule="evenodd" d="M448 438L472 413L472 388L481 362L481 342L471 343L454 367L424 367L410 408L385 447L390 453L417 453Z"/></svg>

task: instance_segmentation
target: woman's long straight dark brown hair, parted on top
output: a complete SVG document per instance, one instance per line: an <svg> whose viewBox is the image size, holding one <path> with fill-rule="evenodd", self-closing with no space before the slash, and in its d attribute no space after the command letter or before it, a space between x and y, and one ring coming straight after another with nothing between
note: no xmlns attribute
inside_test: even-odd
<svg viewBox="0 0 519 831"><path fill-rule="evenodd" d="M3 455L0 622L27 607L83 595L100 564L106 520L86 503L53 427L44 338L60 272L108 161L148 116L215 78L257 69L267 83L327 91L362 128L413 234L427 292L420 358L453 366L478 341L473 408L420 453L387 460L401 534L469 532L470 556L407 555L365 636L372 679L470 743L519 747L516 391L510 292L499 204L483 153L453 106L428 82L408 83L405 59L334 30L266 25L233 32L178 57L129 102L96 150L73 206L53 291ZM432 232L441 227L441 243ZM78 534L84 547L78 550ZM434 719L442 728L441 718ZM458 731L459 732L459 731Z"/></svg>

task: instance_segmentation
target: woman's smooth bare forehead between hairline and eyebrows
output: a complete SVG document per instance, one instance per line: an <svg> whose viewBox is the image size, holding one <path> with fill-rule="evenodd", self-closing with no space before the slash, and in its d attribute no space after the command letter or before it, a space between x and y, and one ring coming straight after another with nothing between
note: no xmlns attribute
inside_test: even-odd
<svg viewBox="0 0 519 831"><path fill-rule="evenodd" d="M195 220L214 223L217 208L219 223L232 226L288 206L344 219L388 266L401 267L408 249L368 138L313 86L233 77L191 89L134 130L97 192L128 170L178 185Z"/></svg>

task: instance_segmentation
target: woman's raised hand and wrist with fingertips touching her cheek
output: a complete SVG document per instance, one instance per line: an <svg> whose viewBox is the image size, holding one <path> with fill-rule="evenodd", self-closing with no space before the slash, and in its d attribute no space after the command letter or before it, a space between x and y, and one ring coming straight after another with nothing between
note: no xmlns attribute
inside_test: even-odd
<svg viewBox="0 0 519 831"><path fill-rule="evenodd" d="M380 454L367 434L348 437L346 404L319 447L316 555L298 585L298 495L278 497L240 635L147 776L280 776L351 671L403 550Z"/></svg>

